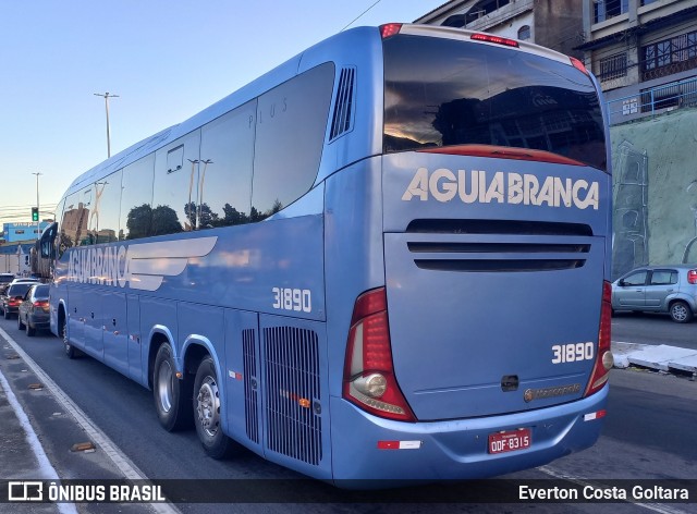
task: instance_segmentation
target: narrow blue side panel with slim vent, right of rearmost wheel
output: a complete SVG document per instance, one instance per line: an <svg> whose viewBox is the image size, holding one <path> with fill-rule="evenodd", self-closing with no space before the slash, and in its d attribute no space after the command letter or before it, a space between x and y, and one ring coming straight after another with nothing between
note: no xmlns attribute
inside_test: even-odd
<svg viewBox="0 0 697 514"><path fill-rule="evenodd" d="M225 309L224 369L228 435L264 455L264 396L258 314Z"/></svg>

